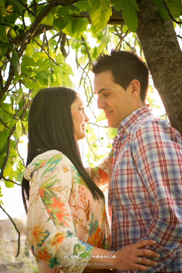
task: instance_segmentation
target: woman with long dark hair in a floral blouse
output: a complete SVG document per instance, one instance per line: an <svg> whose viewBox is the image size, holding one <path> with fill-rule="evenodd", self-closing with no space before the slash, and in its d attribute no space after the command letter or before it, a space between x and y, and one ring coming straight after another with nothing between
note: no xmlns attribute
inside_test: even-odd
<svg viewBox="0 0 182 273"><path fill-rule="evenodd" d="M22 180L28 211L26 246L36 257L39 273L82 272L86 265L92 270L147 270L139 263L156 263L139 256L157 253L139 248L155 241L141 241L112 254L107 250L104 195L84 170L77 144L86 136L87 121L83 102L72 89L46 88L33 99Z"/></svg>

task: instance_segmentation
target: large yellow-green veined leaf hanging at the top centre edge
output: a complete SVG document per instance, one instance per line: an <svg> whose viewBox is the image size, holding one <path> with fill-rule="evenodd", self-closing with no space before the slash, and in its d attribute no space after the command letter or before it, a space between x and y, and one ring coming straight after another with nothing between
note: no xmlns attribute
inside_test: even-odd
<svg viewBox="0 0 182 273"><path fill-rule="evenodd" d="M112 15L109 0L88 0L89 14L92 21L92 28L98 32L103 29Z"/></svg>

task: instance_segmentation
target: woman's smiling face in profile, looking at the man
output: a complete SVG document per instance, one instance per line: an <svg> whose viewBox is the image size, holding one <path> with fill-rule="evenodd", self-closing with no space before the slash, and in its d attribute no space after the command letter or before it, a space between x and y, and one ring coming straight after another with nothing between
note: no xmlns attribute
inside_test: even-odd
<svg viewBox="0 0 182 273"><path fill-rule="evenodd" d="M81 140L86 136L85 125L89 118L84 112L84 103L79 96L71 104L71 115L77 140Z"/></svg>

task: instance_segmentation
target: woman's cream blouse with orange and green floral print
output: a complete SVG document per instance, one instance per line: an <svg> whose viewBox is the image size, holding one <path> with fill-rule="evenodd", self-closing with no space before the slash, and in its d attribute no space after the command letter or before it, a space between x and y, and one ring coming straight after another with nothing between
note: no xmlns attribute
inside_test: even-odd
<svg viewBox="0 0 182 273"><path fill-rule="evenodd" d="M111 172L103 171L112 166L110 160L101 164L103 170L87 168L98 186L108 183ZM39 273L81 273L92 246L109 247L105 201L94 200L74 165L57 150L35 157L24 177L31 181L25 244Z"/></svg>

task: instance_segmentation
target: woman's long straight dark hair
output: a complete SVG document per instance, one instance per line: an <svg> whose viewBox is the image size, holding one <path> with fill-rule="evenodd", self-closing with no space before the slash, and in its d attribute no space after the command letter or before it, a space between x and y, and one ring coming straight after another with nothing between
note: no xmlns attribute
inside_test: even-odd
<svg viewBox="0 0 182 273"><path fill-rule="evenodd" d="M81 161L70 109L77 96L76 91L66 87L45 88L36 94L29 111L26 166L37 155L49 150L58 150L76 167L94 199L104 198L104 194L89 177ZM29 188L29 181L23 177L22 198L26 213Z"/></svg>

